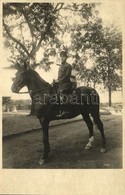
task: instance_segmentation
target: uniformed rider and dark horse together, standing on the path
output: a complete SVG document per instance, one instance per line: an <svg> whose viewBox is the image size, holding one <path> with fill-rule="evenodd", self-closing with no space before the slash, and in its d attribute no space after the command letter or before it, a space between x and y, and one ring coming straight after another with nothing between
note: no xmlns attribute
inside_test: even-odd
<svg viewBox="0 0 125 195"><path fill-rule="evenodd" d="M63 53L64 56L64 53ZM59 89L61 90L66 90L68 93L70 91L70 79L69 77L71 76L71 66L66 62L67 56L62 57L62 68L59 70ZM62 59L61 58L61 59ZM65 58L65 60L64 60ZM66 67L66 68L65 68ZM63 69L64 68L64 69ZM63 73L63 71L64 73ZM66 70L65 70L66 69ZM62 79L61 79L62 78ZM63 81L63 82L62 82ZM11 90L13 93L19 93L19 91L26 86L28 88L28 93L30 94L32 100L35 100L36 96L40 97L40 102L39 102L39 113L38 113L38 118L40 121L40 124L42 126L42 131L43 131L43 155L40 158L39 163L42 165L45 162L48 161L48 154L50 152L50 145L49 145L49 123L52 120L57 120L57 119L69 119L69 118L74 118L78 115L82 115L84 121L86 122L86 125L89 129L89 142L86 145L86 149L91 149L92 147L92 142L94 140L93 137L93 122L90 118L90 115L93 117L94 123L97 125L100 133L101 133L101 138L102 138L102 143L101 143L101 152L106 152L106 138L104 134L104 128L103 128L103 123L100 119L100 113L99 113L99 94L97 91L91 87L86 87L86 86L81 86L78 87L75 90L76 97L78 97L78 100L80 100L80 104L77 104L77 101L75 102L72 101L72 104L70 104L70 108L67 108L69 113L67 115L64 115L62 117L57 117L58 113L58 108L60 107L58 104L51 104L50 100L51 96L53 97L54 94L56 94L56 90L53 89L53 87L44 81L40 77L40 75L33 70L32 68L28 67L26 64L21 67L18 72L16 73L15 79L13 81ZM32 93L30 93L32 91ZM66 93L65 91L65 93ZM48 104L44 105L43 104L43 98L44 94L48 94L47 96L48 99ZM68 97L72 97L74 94L73 93L67 95ZM81 95L83 98L83 103L81 103ZM85 97L84 97L85 95ZM93 100L93 97L96 97L96 103L93 101L86 101L86 97L88 100ZM38 98L39 100L39 98ZM78 102L79 103L79 102ZM54 106L54 107L53 107ZM68 105L66 105L68 107ZM51 109L52 108L52 109ZM54 109L53 109L54 108ZM62 106L62 111L64 107Z"/></svg>

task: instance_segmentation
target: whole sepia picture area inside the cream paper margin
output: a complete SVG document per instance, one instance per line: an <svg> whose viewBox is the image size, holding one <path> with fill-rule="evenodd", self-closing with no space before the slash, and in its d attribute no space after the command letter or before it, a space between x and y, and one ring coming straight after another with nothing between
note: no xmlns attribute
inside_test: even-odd
<svg viewBox="0 0 125 195"><path fill-rule="evenodd" d="M2 3L2 168L122 169L122 20L106 3Z"/></svg>

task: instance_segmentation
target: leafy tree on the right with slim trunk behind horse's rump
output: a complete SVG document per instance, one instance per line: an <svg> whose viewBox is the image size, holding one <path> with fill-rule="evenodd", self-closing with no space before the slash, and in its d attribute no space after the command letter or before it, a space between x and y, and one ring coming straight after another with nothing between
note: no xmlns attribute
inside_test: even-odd
<svg viewBox="0 0 125 195"><path fill-rule="evenodd" d="M84 25L76 24L77 31L72 34L72 48L77 51L75 67L80 70L80 79L88 84L93 82L95 87L103 83L111 106L112 91L122 85L122 35L115 25L104 26L96 9L92 13ZM93 61L93 67L86 67L87 60L82 60L82 55Z"/></svg>

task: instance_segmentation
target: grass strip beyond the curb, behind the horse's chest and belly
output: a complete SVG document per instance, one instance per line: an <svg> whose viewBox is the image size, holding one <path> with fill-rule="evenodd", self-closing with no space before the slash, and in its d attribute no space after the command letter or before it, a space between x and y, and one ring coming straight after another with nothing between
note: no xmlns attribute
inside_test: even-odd
<svg viewBox="0 0 125 195"><path fill-rule="evenodd" d="M29 111L18 111L18 112L5 112L3 113L3 136L9 136L12 134L32 131L41 128L38 118L29 116ZM82 119L82 116L78 116L71 121ZM69 120L55 120L51 121L50 126L67 123Z"/></svg>

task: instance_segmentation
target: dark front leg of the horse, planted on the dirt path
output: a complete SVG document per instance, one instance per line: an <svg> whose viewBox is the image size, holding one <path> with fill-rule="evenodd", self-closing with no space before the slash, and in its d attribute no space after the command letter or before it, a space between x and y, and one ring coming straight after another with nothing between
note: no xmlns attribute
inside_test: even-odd
<svg viewBox="0 0 125 195"><path fill-rule="evenodd" d="M39 164L43 165L48 161L48 153L50 152L50 146L49 146L49 121L45 118L39 119L41 126L42 126L42 132L43 132L43 155L40 158Z"/></svg>

